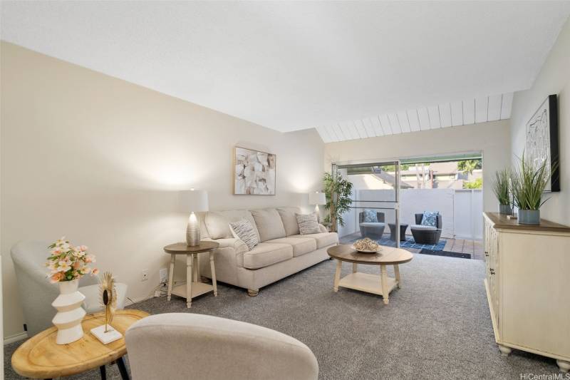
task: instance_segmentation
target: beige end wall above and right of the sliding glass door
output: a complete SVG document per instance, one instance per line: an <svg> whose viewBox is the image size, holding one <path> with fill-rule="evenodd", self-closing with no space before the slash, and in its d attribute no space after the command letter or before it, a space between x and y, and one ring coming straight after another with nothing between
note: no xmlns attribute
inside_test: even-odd
<svg viewBox="0 0 570 380"><path fill-rule="evenodd" d="M510 163L509 120L439 128L325 145L325 170L331 162L385 160L452 153L482 152L483 208L496 211L497 199L489 188L494 172Z"/></svg>

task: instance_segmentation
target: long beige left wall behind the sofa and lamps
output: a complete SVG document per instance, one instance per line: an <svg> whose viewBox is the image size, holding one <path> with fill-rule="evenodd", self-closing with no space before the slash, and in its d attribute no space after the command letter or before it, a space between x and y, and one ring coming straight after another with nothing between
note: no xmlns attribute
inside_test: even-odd
<svg viewBox="0 0 570 380"><path fill-rule="evenodd" d="M321 188L315 130L279 133L4 42L1 80L5 337L24 323L9 252L19 240L88 245L140 299L167 265L162 247L185 237L176 190L209 190L212 210L309 209L306 192ZM276 196L232 195L234 145L276 153Z"/></svg>

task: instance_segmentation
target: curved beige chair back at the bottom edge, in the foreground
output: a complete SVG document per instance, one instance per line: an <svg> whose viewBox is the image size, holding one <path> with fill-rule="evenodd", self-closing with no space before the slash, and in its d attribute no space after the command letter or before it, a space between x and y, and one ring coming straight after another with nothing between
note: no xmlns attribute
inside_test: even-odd
<svg viewBox="0 0 570 380"><path fill-rule="evenodd" d="M315 380L305 344L265 327L202 314L157 314L125 333L133 380Z"/></svg>

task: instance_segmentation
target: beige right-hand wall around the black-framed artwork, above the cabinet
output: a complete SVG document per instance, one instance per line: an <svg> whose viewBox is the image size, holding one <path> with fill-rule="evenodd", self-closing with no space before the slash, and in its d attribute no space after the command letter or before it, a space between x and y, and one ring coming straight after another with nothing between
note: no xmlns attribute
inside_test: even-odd
<svg viewBox="0 0 570 380"><path fill-rule="evenodd" d="M541 207L541 217L570 225L570 19L552 47L532 88L514 94L511 115L512 153L522 157L527 121L546 96L558 94L560 189ZM518 164L513 157L513 163Z"/></svg>

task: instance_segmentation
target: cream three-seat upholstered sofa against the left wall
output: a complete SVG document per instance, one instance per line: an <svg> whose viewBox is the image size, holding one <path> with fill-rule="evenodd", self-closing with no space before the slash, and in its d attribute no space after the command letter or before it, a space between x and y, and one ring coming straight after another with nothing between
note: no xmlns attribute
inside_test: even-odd
<svg viewBox="0 0 570 380"><path fill-rule="evenodd" d="M301 210L279 207L200 215L201 239L219 242L214 255L217 281L242 287L255 296L261 287L328 259L327 248L338 244L336 232L327 232L321 225L321 233L299 235L296 212ZM229 223L240 219L252 222L259 237L253 250L229 230ZM200 274L212 278L207 255L199 255Z"/></svg>

